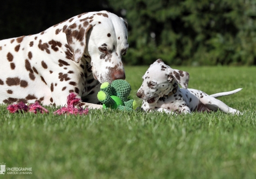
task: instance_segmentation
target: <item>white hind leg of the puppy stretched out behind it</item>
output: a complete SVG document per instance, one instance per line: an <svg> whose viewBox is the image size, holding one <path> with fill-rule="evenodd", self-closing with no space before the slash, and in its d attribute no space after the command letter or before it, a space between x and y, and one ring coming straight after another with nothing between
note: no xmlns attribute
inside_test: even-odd
<svg viewBox="0 0 256 179"><path fill-rule="evenodd" d="M218 100L210 96L204 96L203 98L200 98L200 101L207 108L209 108L209 110L212 110L212 111L217 111L219 109L225 113L242 114L240 111L229 107L228 105L223 103L221 100Z"/></svg>

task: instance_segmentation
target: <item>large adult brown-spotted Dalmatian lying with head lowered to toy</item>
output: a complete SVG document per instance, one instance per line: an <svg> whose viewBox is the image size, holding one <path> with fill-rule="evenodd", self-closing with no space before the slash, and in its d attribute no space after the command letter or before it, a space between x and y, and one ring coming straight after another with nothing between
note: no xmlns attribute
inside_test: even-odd
<svg viewBox="0 0 256 179"><path fill-rule="evenodd" d="M127 23L108 12L86 12L39 34L0 41L0 103L65 105L71 92L101 108L101 83L125 79Z"/></svg>

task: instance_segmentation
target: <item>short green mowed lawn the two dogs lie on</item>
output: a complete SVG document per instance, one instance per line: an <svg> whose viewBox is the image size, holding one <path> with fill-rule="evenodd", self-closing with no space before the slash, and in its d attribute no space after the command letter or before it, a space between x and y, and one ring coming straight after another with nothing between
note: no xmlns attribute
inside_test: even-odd
<svg viewBox="0 0 256 179"><path fill-rule="evenodd" d="M126 67L132 96L145 67ZM173 67L175 68L175 67ZM256 67L176 67L190 88L220 98L243 116L89 110L87 116L10 114L0 106L0 163L32 175L1 178L256 178ZM65 97L64 97L65 98Z"/></svg>

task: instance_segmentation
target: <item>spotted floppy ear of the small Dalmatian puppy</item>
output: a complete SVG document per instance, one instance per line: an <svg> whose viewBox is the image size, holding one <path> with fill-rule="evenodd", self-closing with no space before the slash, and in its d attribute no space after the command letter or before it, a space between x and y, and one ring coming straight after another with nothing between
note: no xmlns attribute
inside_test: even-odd
<svg viewBox="0 0 256 179"><path fill-rule="evenodd" d="M187 88L190 74L178 69L169 68L167 80L169 82L173 82L173 79L175 79L182 88Z"/></svg>

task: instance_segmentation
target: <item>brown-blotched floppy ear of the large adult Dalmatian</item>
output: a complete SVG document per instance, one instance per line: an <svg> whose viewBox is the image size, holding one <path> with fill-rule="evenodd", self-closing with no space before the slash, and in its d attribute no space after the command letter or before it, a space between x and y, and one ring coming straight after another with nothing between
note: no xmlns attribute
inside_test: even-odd
<svg viewBox="0 0 256 179"><path fill-rule="evenodd" d="M66 28L66 40L73 51L72 60L79 62L86 49L86 34L93 27L92 17L86 17L82 20L77 20L75 23Z"/></svg>

